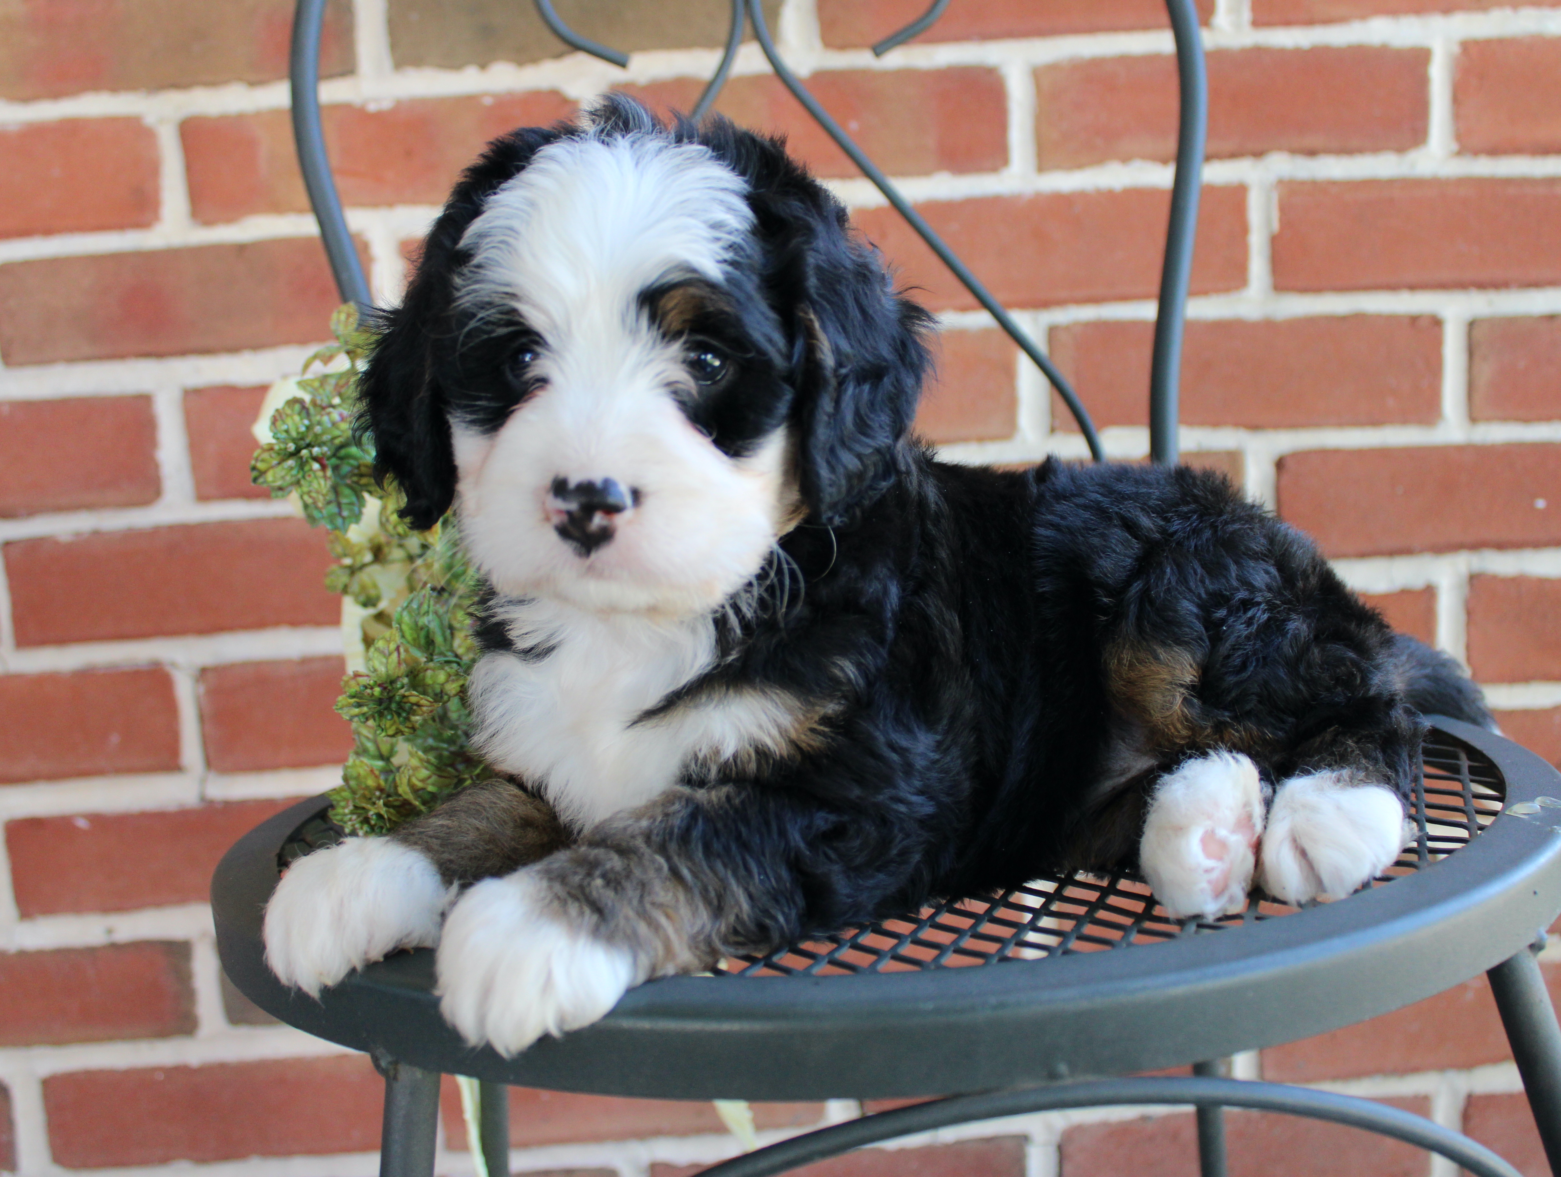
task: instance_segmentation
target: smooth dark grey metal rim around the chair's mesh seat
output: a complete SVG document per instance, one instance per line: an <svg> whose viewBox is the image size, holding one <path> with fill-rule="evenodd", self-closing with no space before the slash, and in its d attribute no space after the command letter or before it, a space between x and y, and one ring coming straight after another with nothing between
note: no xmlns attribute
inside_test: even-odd
<svg viewBox="0 0 1561 1177"><path fill-rule="evenodd" d="M1458 985L1561 913L1561 773L1470 724L1433 718L1505 777L1506 805L1455 854L1341 902L1125 951L916 973L670 977L601 1022L517 1058L470 1049L439 1016L432 952L403 952L318 1001L265 968L276 851L323 807L298 802L222 860L223 968L284 1022L428 1069L596 1094L894 1097L1179 1066L1311 1037Z"/></svg>

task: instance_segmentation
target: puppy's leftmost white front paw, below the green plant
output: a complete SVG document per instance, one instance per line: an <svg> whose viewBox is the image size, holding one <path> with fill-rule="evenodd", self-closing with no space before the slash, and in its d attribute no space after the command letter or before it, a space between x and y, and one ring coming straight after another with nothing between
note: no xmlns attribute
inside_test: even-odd
<svg viewBox="0 0 1561 1177"><path fill-rule="evenodd" d="M432 948L453 887L390 838L347 838L298 859L265 905L265 963L311 996L398 948Z"/></svg>

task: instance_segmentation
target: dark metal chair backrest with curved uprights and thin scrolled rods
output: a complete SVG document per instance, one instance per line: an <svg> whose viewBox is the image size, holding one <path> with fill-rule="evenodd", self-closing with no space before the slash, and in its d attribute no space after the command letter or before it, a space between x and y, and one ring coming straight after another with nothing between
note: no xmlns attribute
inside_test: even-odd
<svg viewBox="0 0 1561 1177"><path fill-rule="evenodd" d="M571 30L553 9L549 0L534 0L537 12L553 33L567 45L601 58L613 66L628 66L629 58L618 50L599 45L588 37L582 37ZM1068 379L1057 370L1051 357L1030 339L1002 304L991 295L980 279L971 273L963 261L948 247L937 231L916 212L915 206L901 195L888 176L857 147L830 114L801 83L796 73L787 66L774 39L770 36L765 22L762 0L731 0L732 19L726 39L726 50L715 75L706 84L699 101L695 105L692 117L702 119L721 94L721 87L731 76L732 61L743 41L748 23L752 25L760 50L770 61L780 83L796 97L813 120L829 134L841 151L873 181L884 198L905 219L949 272L965 286L977 303L996 320L1010 339L1026 356L1046 375L1052 387L1066 403L1069 412L1079 421L1085 443L1096 460L1105 456L1099 432L1091 421L1088 411L1074 393ZM902 45L912 37L930 28L948 9L949 0L935 0L933 5L916 20L899 31L884 37L873 52L879 56ZM1166 0L1171 16L1171 28L1175 36L1177 67L1180 80L1180 131L1177 139L1175 181L1171 190L1171 223L1166 234L1165 265L1160 279L1160 303L1155 318L1154 365L1150 373L1149 398L1149 448L1157 462L1177 460L1177 411L1179 411L1179 375L1182 367L1182 336L1186 317L1186 297L1191 283L1193 245L1197 234L1197 204L1204 170L1204 145L1208 120L1208 83L1204 67L1204 48L1197 27L1197 9L1194 0ZM304 184L309 190L309 201L320 222L320 234L325 239L326 254L336 275L342 297L368 304L368 283L364 278L362 262L353 245L347 220L342 215L340 197L331 176L331 164L325 151L325 139L320 131L320 100L318 100L318 64L320 64L320 23L325 11L325 0L298 0L293 19L292 44L292 114L293 136L298 144L298 162L303 169Z"/></svg>

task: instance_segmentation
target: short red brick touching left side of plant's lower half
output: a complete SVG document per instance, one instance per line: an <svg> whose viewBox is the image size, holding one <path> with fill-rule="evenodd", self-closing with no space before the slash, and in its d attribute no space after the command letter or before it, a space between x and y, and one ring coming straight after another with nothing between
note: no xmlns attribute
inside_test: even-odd
<svg viewBox="0 0 1561 1177"><path fill-rule="evenodd" d="M206 763L219 773L342 763L353 729L336 713L339 657L244 662L200 676Z"/></svg>

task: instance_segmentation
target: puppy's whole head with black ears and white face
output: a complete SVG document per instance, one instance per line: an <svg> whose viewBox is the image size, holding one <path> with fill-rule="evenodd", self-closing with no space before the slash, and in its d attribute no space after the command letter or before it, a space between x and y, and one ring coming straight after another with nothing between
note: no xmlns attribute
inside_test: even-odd
<svg viewBox="0 0 1561 1177"><path fill-rule="evenodd" d="M362 390L428 528L507 595L690 615L888 484L926 314L770 139L609 98L462 178Z"/></svg>

